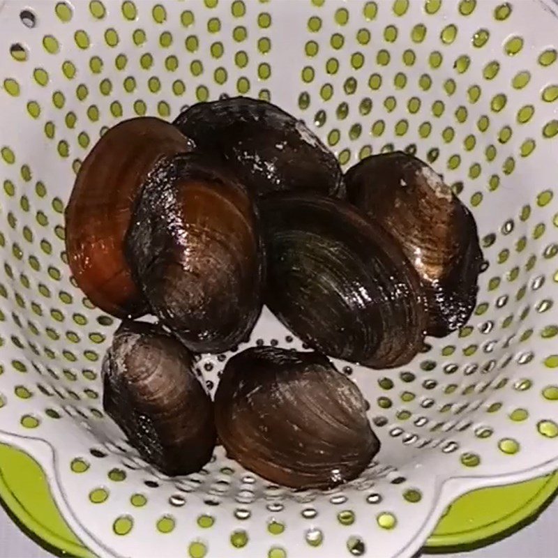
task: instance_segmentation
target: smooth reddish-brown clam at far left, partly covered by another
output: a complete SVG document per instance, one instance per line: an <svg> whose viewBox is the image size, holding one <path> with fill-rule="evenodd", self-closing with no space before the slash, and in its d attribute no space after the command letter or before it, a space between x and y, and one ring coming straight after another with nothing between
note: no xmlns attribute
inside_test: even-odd
<svg viewBox="0 0 558 558"><path fill-rule="evenodd" d="M146 116L110 128L86 156L66 207L66 251L77 285L101 310L146 311L123 255L132 204L159 158L191 148L172 124Z"/></svg>

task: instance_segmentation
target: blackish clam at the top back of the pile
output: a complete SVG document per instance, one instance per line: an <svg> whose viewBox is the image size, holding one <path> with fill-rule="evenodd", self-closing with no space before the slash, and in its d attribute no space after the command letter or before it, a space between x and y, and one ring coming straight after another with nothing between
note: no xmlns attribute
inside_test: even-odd
<svg viewBox="0 0 558 558"><path fill-rule="evenodd" d="M197 103L174 124L200 149L221 153L257 197L276 190L345 195L333 153L276 105L246 97Z"/></svg>

